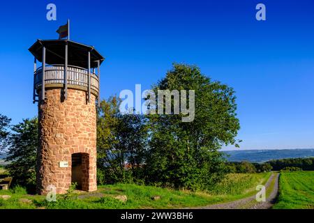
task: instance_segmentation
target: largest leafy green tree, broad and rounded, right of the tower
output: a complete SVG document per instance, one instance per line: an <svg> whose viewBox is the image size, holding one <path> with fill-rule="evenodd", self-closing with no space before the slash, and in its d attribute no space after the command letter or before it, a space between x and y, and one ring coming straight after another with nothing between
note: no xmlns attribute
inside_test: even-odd
<svg viewBox="0 0 314 223"><path fill-rule="evenodd" d="M182 122L181 114L149 115L147 180L172 187L202 189L219 181L224 173L223 145L235 144L239 120L232 88L213 82L200 68L174 64L161 79L158 90L194 90L195 118ZM189 98L186 104L189 104ZM173 102L172 102L173 105ZM158 105L157 105L158 109Z"/></svg>

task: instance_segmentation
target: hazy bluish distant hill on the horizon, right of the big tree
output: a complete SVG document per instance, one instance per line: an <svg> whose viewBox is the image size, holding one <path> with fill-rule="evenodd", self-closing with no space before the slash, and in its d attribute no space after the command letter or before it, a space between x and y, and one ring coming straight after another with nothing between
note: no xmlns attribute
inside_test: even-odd
<svg viewBox="0 0 314 223"><path fill-rule="evenodd" d="M224 151L228 161L267 162L284 158L314 157L314 148L297 148L281 150L248 150L248 151Z"/></svg>

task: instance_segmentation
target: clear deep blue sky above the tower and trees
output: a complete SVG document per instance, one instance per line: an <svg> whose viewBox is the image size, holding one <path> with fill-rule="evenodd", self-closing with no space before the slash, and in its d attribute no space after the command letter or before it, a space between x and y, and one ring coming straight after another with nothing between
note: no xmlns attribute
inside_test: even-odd
<svg viewBox="0 0 314 223"><path fill-rule="evenodd" d="M5 1L0 12L0 113L13 123L37 115L27 49L69 18L71 39L106 57L102 98L149 89L174 61L194 64L237 92L242 149L314 148L313 0Z"/></svg>

